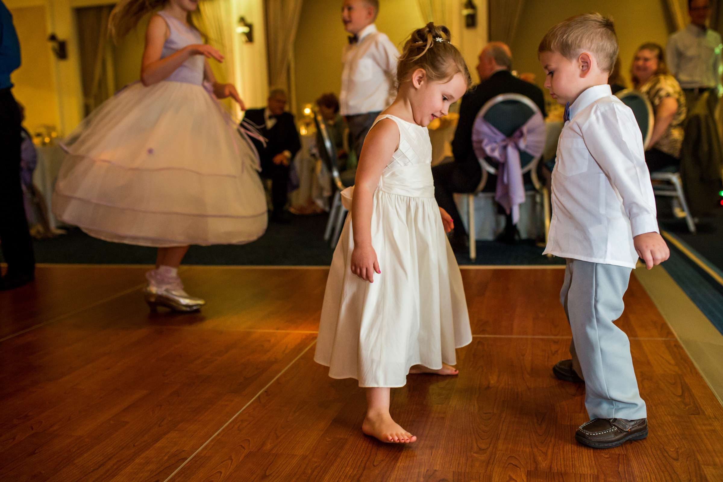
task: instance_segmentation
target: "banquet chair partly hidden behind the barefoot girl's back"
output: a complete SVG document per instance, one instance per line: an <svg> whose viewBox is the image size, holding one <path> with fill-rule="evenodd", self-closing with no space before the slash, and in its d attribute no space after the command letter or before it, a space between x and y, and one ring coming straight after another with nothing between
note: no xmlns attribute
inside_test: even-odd
<svg viewBox="0 0 723 482"><path fill-rule="evenodd" d="M317 129L317 152L323 163L325 163L329 172L333 185L336 188L334 199L329 212L329 220L326 223L324 231L324 241L330 241L331 247L334 248L339 239L341 228L346 218L346 207L341 204L341 191L349 186L354 186L354 177L356 171L340 171L339 158L336 154L336 147L331 141L329 131L324 123L324 119L318 112L314 113L314 124Z"/></svg>

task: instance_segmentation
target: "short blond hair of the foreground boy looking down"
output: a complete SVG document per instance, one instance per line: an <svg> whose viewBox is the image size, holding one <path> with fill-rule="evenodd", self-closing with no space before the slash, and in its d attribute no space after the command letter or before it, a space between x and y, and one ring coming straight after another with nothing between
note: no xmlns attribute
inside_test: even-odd
<svg viewBox="0 0 723 482"><path fill-rule="evenodd" d="M612 19L599 13L570 17L547 31L537 48L542 52L557 52L574 60L581 52L595 56L603 72L611 72L617 59L617 35Z"/></svg>

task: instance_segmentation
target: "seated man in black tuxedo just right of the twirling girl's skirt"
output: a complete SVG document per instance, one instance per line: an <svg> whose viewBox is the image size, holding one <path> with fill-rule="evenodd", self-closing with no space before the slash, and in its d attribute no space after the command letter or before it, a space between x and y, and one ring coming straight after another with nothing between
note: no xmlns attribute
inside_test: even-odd
<svg viewBox="0 0 723 482"><path fill-rule="evenodd" d="M268 106L246 111L245 119L257 126L261 135L268 139L266 147L253 139L261 158L261 176L271 179L271 220L288 223L289 216L284 210L288 199L288 173L291 161L301 149L301 139L296 131L294 114L285 112L288 98L281 89L272 90Z"/></svg>

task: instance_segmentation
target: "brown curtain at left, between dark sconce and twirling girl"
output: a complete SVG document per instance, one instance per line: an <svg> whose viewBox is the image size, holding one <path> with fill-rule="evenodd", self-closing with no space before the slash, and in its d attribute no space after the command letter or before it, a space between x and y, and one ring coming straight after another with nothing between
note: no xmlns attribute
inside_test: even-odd
<svg viewBox="0 0 723 482"><path fill-rule="evenodd" d="M108 45L108 17L111 5L76 10L83 104L87 115L100 106L113 92L108 88L106 46Z"/></svg>

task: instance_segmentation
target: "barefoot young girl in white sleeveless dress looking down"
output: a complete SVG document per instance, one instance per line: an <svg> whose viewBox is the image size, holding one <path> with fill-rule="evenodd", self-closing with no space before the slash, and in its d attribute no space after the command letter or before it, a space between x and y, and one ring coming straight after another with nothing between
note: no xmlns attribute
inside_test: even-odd
<svg viewBox="0 0 723 482"><path fill-rule="evenodd" d="M455 348L472 340L462 277L437 206L427 125L471 83L447 27L415 30L398 62L398 94L367 134L351 210L334 251L315 361L367 390L364 434L416 436L390 416L390 388L409 373L458 374Z"/></svg>

